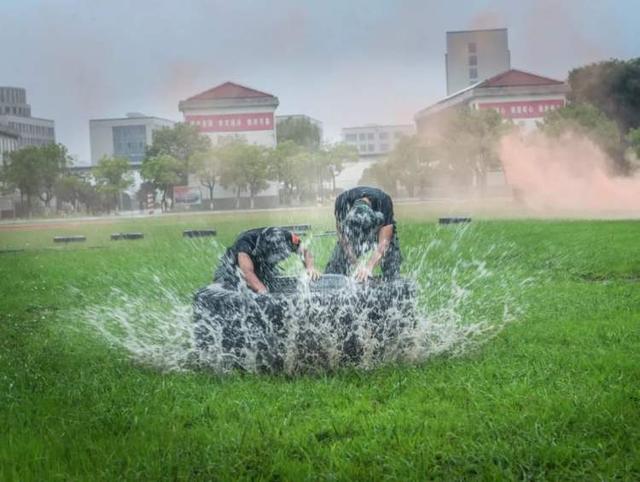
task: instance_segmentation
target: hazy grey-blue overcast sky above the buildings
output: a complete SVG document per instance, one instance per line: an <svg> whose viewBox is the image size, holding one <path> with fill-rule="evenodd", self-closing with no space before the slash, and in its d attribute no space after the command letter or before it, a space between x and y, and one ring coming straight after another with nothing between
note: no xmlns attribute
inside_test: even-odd
<svg viewBox="0 0 640 482"><path fill-rule="evenodd" d="M0 85L89 161L89 119L181 120L178 102L227 80L276 95L328 138L410 123L445 95L445 32L509 29L514 68L565 79L640 56L640 0L0 0Z"/></svg>

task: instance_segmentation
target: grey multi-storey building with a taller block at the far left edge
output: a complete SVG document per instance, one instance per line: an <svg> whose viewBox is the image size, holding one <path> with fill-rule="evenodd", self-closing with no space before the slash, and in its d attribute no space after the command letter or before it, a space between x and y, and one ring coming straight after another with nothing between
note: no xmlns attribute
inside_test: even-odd
<svg viewBox="0 0 640 482"><path fill-rule="evenodd" d="M0 125L19 134L18 147L42 146L56 141L55 123L31 117L27 92L19 87L0 87Z"/></svg>

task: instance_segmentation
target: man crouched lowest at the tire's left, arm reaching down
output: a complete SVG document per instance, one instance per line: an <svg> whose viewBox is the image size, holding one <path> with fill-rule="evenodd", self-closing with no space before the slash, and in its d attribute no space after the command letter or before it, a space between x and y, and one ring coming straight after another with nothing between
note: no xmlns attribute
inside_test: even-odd
<svg viewBox="0 0 640 482"><path fill-rule="evenodd" d="M281 228L244 231L220 258L213 281L226 289L246 285L256 293L267 293L269 284L280 274L278 263L292 253L300 255L309 276L317 279L319 274L313 267L311 253L291 231Z"/></svg>

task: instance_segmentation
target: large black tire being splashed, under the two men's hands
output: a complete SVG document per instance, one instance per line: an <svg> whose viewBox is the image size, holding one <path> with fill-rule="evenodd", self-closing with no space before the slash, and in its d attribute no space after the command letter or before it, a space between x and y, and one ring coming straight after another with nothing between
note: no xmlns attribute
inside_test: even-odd
<svg viewBox="0 0 640 482"><path fill-rule="evenodd" d="M375 344L373 361L409 348L416 322L412 281L374 280L348 288L346 278L331 275L310 285L304 296L293 278L270 288L270 295L255 295L212 284L195 294L194 335L203 364L259 372L282 371L285 357L293 371L323 370L336 357L340 364L357 364L365 348L371 351L363 334ZM335 340L323 338L327 330Z"/></svg>

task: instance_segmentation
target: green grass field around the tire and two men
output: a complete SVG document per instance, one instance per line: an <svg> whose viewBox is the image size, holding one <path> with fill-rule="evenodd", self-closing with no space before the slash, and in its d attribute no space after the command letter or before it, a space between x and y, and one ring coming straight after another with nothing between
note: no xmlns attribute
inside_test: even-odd
<svg viewBox="0 0 640 482"><path fill-rule="evenodd" d="M640 222L397 217L425 310L502 329L415 365L299 376L167 371L84 310L188 304L238 231L331 229L327 210L0 228L0 480L640 479ZM198 227L217 242L182 238ZM128 230L145 239L109 241ZM331 241L311 243L321 265Z"/></svg>

